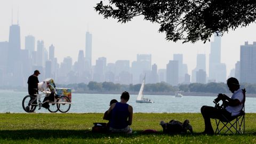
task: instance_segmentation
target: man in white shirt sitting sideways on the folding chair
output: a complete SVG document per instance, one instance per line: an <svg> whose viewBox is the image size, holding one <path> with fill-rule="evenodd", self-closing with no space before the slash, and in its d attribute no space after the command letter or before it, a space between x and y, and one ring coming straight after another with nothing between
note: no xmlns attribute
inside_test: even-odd
<svg viewBox="0 0 256 144"><path fill-rule="evenodd" d="M201 113L204 117L205 124L205 129L203 133L205 134L214 134L210 118L220 119L222 115L228 118L231 116L239 115L241 113L241 110L243 108L244 95L243 91L239 89L239 82L236 78L230 77L227 79L227 85L233 95L231 98L227 97L227 95L225 94L218 95L218 98L221 99L224 103L223 108L216 108L210 106L203 106L201 108Z"/></svg>

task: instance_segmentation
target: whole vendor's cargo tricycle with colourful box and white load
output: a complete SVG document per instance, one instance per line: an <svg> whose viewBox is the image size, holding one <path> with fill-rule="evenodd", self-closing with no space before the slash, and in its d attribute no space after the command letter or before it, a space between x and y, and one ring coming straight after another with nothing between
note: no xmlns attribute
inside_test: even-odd
<svg viewBox="0 0 256 144"><path fill-rule="evenodd" d="M52 78L47 78L43 82L38 83L38 90L41 92L35 95L26 95L22 100L22 107L27 113L33 113L38 106L47 106L51 113L56 113L58 110L61 113L66 113L71 106L71 89L55 88ZM43 102L41 98L44 98ZM49 104L49 105L48 105Z"/></svg>

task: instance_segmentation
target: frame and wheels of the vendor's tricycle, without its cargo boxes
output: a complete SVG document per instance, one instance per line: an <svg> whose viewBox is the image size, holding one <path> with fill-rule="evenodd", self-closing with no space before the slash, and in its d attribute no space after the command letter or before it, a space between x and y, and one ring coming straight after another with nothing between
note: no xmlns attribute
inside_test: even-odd
<svg viewBox="0 0 256 144"><path fill-rule="evenodd" d="M53 87L53 86L52 86ZM51 113L56 113L58 110L61 113L66 113L70 109L71 102L68 97L61 96L55 94L55 89L53 87L54 92L54 101L46 100L41 101L41 98L49 97L51 92L50 90L43 91L40 94L26 95L22 100L22 107L27 113L33 113L38 106L38 110L41 109L44 103L49 102L50 107L47 108Z"/></svg>

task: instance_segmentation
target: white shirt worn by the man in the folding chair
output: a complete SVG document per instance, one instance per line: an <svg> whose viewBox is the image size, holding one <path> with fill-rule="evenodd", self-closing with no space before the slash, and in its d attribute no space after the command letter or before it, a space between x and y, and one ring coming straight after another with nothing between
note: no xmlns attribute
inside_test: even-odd
<svg viewBox="0 0 256 144"><path fill-rule="evenodd" d="M243 108L243 99L244 99L244 94L243 91L241 89L235 91L231 97L231 99L238 99L240 101L240 105L235 106L235 107L231 107L231 106L227 106L226 110L229 111L229 113L231 113L231 116L236 116L238 114L240 114L240 111Z"/></svg>

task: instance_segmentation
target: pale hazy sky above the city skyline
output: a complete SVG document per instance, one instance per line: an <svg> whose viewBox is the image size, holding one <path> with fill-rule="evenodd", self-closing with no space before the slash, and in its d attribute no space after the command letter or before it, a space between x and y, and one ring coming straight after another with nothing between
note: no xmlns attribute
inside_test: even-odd
<svg viewBox="0 0 256 144"><path fill-rule="evenodd" d="M43 40L45 47L55 46L55 57L62 62L70 56L77 61L78 51L85 51L85 33L92 33L92 63L99 57L106 57L107 63L116 60L136 60L137 54L151 54L152 64L166 68L173 54L182 53L183 63L188 65L188 73L196 66L196 54L206 54L208 73L210 43L195 44L168 42L164 33L158 33L159 25L137 17L128 23L117 23L115 19L103 19L95 12L94 6L100 0L0 0L0 42L8 41L13 23L21 28L21 47L25 47L25 36L33 35ZM256 41L256 25L229 31L222 37L221 62L227 65L227 76L230 69L239 60L240 45L245 41L252 44ZM212 38L213 41L213 38Z"/></svg>

